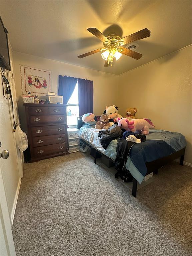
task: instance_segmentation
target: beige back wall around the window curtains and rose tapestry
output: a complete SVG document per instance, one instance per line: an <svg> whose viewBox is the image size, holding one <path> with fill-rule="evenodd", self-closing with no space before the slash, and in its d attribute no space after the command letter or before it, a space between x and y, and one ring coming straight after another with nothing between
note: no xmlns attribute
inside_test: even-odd
<svg viewBox="0 0 192 256"><path fill-rule="evenodd" d="M14 58L14 70L16 79L16 91L19 101L19 112L20 121L22 123L22 128L26 131L25 113L23 102L21 99L21 76L19 65L28 65L30 67L42 68L51 71L52 85L51 91L57 94L58 92L58 75L67 75L77 78L84 78L93 80L94 84L94 114L100 115L105 110L107 105L117 104L117 93L118 86L117 80L118 76L106 74L104 72L95 71L79 66L70 65L63 62L58 62L54 60L49 60L45 58L40 58L28 54L13 53Z"/></svg>

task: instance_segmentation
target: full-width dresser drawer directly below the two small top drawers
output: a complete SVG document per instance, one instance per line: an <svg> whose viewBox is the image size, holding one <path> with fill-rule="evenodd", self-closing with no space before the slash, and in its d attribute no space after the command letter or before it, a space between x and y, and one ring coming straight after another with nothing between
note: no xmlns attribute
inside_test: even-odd
<svg viewBox="0 0 192 256"><path fill-rule="evenodd" d="M39 116L30 116L29 122L31 124L39 123L63 123L67 122L64 115L39 115Z"/></svg>

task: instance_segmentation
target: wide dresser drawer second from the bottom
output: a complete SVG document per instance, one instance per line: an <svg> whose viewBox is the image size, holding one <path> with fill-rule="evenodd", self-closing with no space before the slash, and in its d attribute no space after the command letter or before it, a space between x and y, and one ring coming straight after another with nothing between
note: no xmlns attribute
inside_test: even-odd
<svg viewBox="0 0 192 256"><path fill-rule="evenodd" d="M45 146L45 145L66 142L65 137L66 137L65 134L34 137L33 138L33 146L40 147L40 146Z"/></svg>

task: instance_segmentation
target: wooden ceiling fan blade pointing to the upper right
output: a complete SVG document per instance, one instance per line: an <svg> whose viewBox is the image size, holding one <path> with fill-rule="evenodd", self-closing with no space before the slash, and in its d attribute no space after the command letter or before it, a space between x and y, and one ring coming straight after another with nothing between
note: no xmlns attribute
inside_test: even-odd
<svg viewBox="0 0 192 256"><path fill-rule="evenodd" d="M134 34L121 38L118 42L120 43L120 45L124 45L124 44L128 44L128 43L149 37L150 35L151 35L151 31L147 28L144 28Z"/></svg>

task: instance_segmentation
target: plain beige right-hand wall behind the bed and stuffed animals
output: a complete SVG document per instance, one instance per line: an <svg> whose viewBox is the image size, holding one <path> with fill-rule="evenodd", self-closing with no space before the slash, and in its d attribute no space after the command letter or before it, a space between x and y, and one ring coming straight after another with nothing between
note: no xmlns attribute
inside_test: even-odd
<svg viewBox="0 0 192 256"><path fill-rule="evenodd" d="M182 133L187 140L184 161L191 163L191 46L122 74L119 84L119 113L137 107L137 118Z"/></svg>

